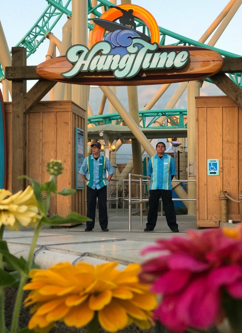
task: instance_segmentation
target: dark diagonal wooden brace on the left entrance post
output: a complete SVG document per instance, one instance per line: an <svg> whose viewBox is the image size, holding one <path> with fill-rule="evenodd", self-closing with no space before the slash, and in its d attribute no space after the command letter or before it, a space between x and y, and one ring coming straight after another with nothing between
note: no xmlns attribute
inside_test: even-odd
<svg viewBox="0 0 242 333"><path fill-rule="evenodd" d="M28 114L56 83L49 80L38 81L23 97L24 114Z"/></svg>

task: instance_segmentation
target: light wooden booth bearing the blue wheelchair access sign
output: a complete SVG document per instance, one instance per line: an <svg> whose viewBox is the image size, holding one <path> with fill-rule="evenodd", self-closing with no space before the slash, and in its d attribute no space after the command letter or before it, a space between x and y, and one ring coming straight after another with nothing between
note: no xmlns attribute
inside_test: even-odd
<svg viewBox="0 0 242 333"><path fill-rule="evenodd" d="M242 191L242 109L227 96L197 97L196 126L197 226L218 227L220 192L239 201ZM208 172L210 160L218 161L217 173ZM241 221L240 204L226 203L227 219Z"/></svg>

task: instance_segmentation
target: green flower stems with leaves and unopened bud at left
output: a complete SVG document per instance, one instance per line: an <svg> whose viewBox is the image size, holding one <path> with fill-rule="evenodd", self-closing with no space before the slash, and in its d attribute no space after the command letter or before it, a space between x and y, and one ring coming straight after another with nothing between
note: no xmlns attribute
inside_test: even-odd
<svg viewBox="0 0 242 333"><path fill-rule="evenodd" d="M63 166L60 161L51 160L47 165L47 171L50 174L48 182L43 184L38 183L36 180L28 177L21 176L19 178L26 178L31 184L39 210L39 219L35 225L35 232L30 245L30 251L27 261L22 257L17 258L8 250L7 242L2 240L3 228L0 227L0 329L3 333L33 333L33 330L28 328L19 329L19 313L22 305L23 286L25 285L29 270L32 268L39 268L33 263L33 254L38 235L44 225L55 226L66 223L83 223L89 220L88 217L82 216L78 213L71 212L66 217L54 215L49 216L50 195L71 195L75 193L72 189L63 189L57 192L56 178L62 173ZM7 270L4 269L7 267ZM18 286L18 294L13 312L11 331L9 332L5 327L4 319L4 288L9 286Z"/></svg>

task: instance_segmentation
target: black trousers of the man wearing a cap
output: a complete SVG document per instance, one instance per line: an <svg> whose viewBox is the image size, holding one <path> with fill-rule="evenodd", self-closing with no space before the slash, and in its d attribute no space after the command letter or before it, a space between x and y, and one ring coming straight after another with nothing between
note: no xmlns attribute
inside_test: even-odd
<svg viewBox="0 0 242 333"><path fill-rule="evenodd" d="M107 186L101 189L91 189L87 186L87 216L92 221L87 222L87 228L94 228L96 216L96 204L98 200L99 224L101 228L108 227L108 211L107 211Z"/></svg>

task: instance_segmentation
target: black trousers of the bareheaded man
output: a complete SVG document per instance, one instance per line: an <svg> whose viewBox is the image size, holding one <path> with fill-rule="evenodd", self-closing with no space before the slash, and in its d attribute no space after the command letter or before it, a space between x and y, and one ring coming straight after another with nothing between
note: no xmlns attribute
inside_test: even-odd
<svg viewBox="0 0 242 333"><path fill-rule="evenodd" d="M154 229L157 221L159 199L162 199L166 221L171 230L177 229L176 212L172 201L172 190L150 190L149 196L149 213L147 217L146 227Z"/></svg>

